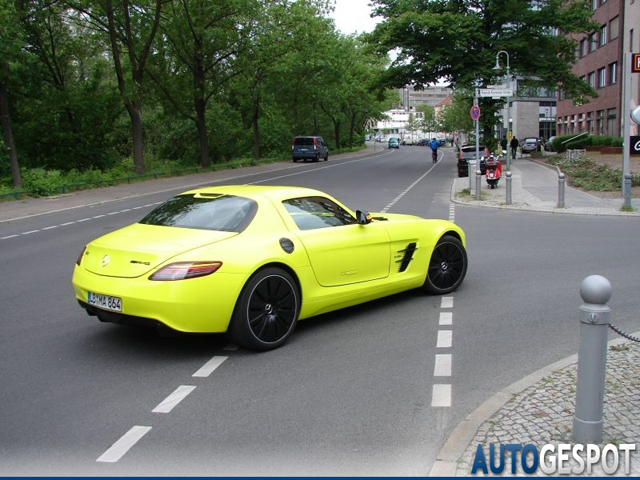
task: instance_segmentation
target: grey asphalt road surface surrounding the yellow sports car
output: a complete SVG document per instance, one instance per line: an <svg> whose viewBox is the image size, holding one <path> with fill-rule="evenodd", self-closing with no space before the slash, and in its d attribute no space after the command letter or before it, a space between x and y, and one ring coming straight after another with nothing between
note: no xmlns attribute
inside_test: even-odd
<svg viewBox="0 0 640 480"><path fill-rule="evenodd" d="M406 147L221 180L315 187L467 233L452 307L408 292L301 322L262 354L222 335L100 324L76 304L82 247L171 192L0 224L0 474L425 475L484 399L576 352L584 277L609 278L613 323L638 330L637 220L453 206L455 162L442 153L436 165ZM443 329L449 348L437 347ZM434 376L443 353L450 377ZM194 376L212 359L218 368ZM451 406L432 406L434 384L452 386ZM181 402L153 411L180 387ZM139 441L118 452L132 429Z"/></svg>

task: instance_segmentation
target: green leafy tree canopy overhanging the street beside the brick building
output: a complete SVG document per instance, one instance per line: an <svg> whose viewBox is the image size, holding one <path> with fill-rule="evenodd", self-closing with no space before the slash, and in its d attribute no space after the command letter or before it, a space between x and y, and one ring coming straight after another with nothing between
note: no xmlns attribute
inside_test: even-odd
<svg viewBox="0 0 640 480"><path fill-rule="evenodd" d="M596 95L571 71L577 42L568 36L599 28L591 20L591 2L373 0L372 4L384 21L369 41L381 52L398 52L387 72L387 85L444 81L469 88L476 80L494 84L501 74L493 70L496 54L504 50L510 55L511 72L522 78L520 85L560 86L574 98ZM481 120L491 128L498 105L489 103L482 106Z"/></svg>

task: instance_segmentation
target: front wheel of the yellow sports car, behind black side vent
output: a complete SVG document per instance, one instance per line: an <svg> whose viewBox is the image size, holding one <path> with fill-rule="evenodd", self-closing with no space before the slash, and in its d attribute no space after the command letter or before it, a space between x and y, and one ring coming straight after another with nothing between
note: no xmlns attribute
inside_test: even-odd
<svg viewBox="0 0 640 480"><path fill-rule="evenodd" d="M444 235L431 254L423 288L434 295L453 292L467 274L467 252L462 242Z"/></svg>

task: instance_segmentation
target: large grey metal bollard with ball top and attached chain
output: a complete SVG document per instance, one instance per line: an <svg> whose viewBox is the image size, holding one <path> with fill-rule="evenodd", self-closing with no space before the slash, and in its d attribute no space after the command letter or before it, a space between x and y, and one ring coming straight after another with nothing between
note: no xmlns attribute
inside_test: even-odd
<svg viewBox="0 0 640 480"><path fill-rule="evenodd" d="M590 275L580 284L580 347L578 385L573 416L576 443L602 442L604 380L607 368L607 333L611 309L611 283L601 275Z"/></svg>

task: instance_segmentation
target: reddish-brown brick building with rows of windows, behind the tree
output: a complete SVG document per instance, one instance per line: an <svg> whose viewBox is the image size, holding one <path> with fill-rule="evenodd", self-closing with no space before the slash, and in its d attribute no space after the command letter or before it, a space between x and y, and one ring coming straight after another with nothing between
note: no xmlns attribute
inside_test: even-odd
<svg viewBox="0 0 640 480"><path fill-rule="evenodd" d="M573 72L588 82L598 92L598 97L583 103L565 98L564 92L559 90L556 118L558 135L582 132L615 137L621 135L622 34L627 33L625 2L634 5L638 0L591 0L593 19L600 27L589 35L573 36L578 40ZM630 24L629 19L626 24ZM635 25L639 25L637 19ZM631 43L634 41L637 44L637 40L631 40Z"/></svg>

